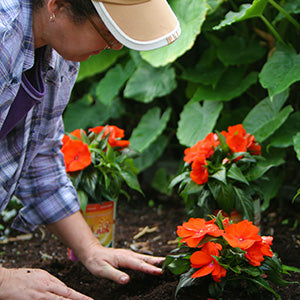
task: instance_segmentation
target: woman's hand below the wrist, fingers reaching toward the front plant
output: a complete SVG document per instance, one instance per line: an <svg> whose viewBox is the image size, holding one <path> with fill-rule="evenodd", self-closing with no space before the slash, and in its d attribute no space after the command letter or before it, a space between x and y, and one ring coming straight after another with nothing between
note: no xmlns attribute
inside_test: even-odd
<svg viewBox="0 0 300 300"><path fill-rule="evenodd" d="M162 274L162 269L156 266L162 264L162 257L143 255L126 249L105 248L98 241L88 247L88 252L86 259L80 258L85 267L95 276L105 277L120 284L127 283L130 278L118 268L153 275Z"/></svg>

